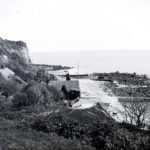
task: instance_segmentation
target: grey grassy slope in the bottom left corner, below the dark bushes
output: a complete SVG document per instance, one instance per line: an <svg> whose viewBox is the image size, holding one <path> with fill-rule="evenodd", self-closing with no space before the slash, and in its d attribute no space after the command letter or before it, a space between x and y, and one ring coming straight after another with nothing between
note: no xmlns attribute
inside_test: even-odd
<svg viewBox="0 0 150 150"><path fill-rule="evenodd" d="M39 108L42 112L43 109ZM55 133L32 130L29 126L40 111L37 107L14 110L0 106L0 146L4 150L94 150L76 140L65 139Z"/></svg>

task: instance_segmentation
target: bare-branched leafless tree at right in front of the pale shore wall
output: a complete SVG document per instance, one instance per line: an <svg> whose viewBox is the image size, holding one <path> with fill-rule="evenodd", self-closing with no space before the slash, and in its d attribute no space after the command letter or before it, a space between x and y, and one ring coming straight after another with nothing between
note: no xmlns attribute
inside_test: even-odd
<svg viewBox="0 0 150 150"><path fill-rule="evenodd" d="M126 122L137 125L139 128L144 127L150 111L150 103L147 100L133 98L121 102L124 108Z"/></svg>

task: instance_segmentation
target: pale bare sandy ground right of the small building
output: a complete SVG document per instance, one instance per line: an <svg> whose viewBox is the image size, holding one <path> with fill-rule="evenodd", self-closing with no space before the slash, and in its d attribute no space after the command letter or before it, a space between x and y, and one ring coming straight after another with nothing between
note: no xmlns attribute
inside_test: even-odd
<svg viewBox="0 0 150 150"><path fill-rule="evenodd" d="M122 110L118 98L110 96L109 93L103 90L104 82L93 81L90 79L81 79L80 89L81 98L73 105L75 109L86 109L94 106L97 102L102 105L107 104L108 107L105 109L110 115L117 121L122 121L123 117L119 113Z"/></svg>

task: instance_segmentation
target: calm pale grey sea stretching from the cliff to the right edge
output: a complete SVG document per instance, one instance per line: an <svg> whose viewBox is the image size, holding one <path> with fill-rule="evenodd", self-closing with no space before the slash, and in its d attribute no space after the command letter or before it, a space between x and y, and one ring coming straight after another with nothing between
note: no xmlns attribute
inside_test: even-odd
<svg viewBox="0 0 150 150"><path fill-rule="evenodd" d="M137 72L150 75L150 51L72 51L30 53L33 63L75 67L80 73Z"/></svg>

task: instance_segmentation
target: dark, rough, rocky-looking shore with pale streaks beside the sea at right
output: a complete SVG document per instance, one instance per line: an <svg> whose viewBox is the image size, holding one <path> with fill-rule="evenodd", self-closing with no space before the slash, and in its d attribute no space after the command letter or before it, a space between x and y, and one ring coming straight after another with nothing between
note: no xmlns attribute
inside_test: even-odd
<svg viewBox="0 0 150 150"><path fill-rule="evenodd" d="M150 97L150 79L146 75L114 72L95 76L99 81L107 81L105 90L111 89L118 97Z"/></svg>

